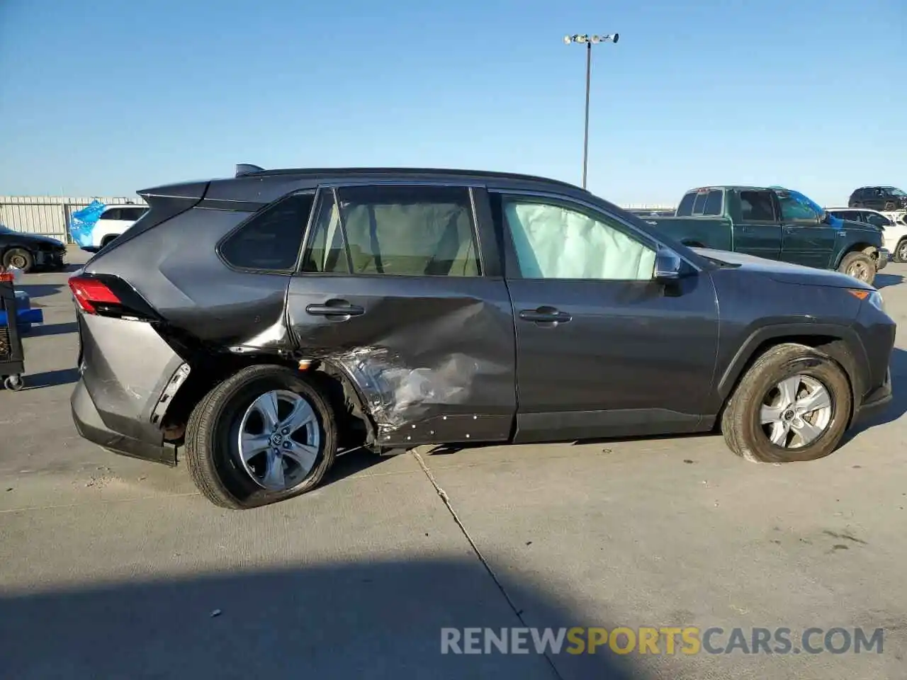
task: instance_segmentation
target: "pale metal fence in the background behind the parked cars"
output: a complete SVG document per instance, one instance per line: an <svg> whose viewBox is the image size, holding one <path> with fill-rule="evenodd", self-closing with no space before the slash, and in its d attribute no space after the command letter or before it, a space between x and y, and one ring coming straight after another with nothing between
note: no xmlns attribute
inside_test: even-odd
<svg viewBox="0 0 907 680"><path fill-rule="evenodd" d="M73 212L83 209L94 199L106 205L144 205L134 199L95 196L91 198L73 196L0 196L0 225L30 234L44 234L72 243L69 235L69 220ZM635 204L626 205L633 210L673 210L673 206Z"/></svg>

